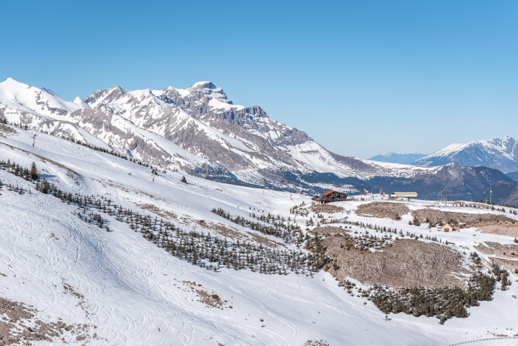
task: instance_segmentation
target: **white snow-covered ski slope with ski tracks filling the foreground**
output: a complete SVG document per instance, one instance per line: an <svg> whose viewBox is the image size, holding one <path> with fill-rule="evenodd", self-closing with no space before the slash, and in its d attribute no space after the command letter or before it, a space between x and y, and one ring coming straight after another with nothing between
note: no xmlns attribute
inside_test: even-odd
<svg viewBox="0 0 518 346"><path fill-rule="evenodd" d="M290 208L303 201L311 203L305 195L188 175L185 184L180 181L182 172L166 170L164 174L162 168L153 180L149 167L50 135L38 133L33 148L34 131L9 127L17 133L0 137L0 160L22 167L35 162L40 176L63 191L105 196L123 208L163 218L145 207L152 205L162 213L174 214L175 219L170 221L184 230L208 233L197 224L204 220L243 234L253 233L210 210L221 207L247 219L252 211L263 210L265 214L293 218ZM518 334L518 300L512 297L518 296L518 283L513 272L509 290L497 288L492 301L468 308L468 318L452 318L440 325L434 317L391 313L386 320L372 302L364 304L364 298L347 294L329 272L321 270L312 276L293 272L265 275L224 266L214 272L172 256L107 213L102 216L110 232L81 220L77 215L80 208L74 204L44 195L35 190L33 183L6 170L0 169L0 180L4 185L0 190L0 297L36 310L34 318L23 322L25 326L35 328L36 320L77 326L63 330L51 341L30 344L303 345L314 341L329 345L438 345ZM24 192L9 191L8 184ZM373 222L372 218L350 212L360 204L361 201L339 202L336 205L345 211L333 217ZM410 203L411 208L440 205L420 200ZM297 217L302 229L310 216ZM376 219L376 223L397 225L403 232L428 234L426 225L408 225L410 215L402 218ZM211 234L217 235L215 231ZM484 240L513 241L511 237L482 234L475 229L434 236L442 242L455 242L457 248L464 247L465 256ZM296 249L293 244L286 247ZM217 294L222 305L205 304L197 290ZM511 345L516 341L473 344Z"/></svg>

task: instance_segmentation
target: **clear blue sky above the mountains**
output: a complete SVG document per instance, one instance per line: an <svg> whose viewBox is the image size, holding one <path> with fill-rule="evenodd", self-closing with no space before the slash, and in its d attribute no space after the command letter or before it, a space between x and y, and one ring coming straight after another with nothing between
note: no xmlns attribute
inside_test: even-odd
<svg viewBox="0 0 518 346"><path fill-rule="evenodd" d="M0 79L65 99L210 80L370 157L518 138L518 2L3 2Z"/></svg>

